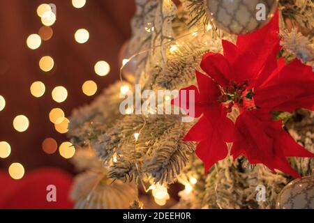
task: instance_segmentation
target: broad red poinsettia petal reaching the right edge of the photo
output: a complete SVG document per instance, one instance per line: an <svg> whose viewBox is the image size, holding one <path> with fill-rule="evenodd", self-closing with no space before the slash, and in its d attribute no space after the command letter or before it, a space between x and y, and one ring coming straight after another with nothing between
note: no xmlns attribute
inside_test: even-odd
<svg viewBox="0 0 314 223"><path fill-rule="evenodd" d="M300 107L312 109L314 104L314 75L310 66L294 60L277 70L260 86L254 100L259 107L293 112Z"/></svg>

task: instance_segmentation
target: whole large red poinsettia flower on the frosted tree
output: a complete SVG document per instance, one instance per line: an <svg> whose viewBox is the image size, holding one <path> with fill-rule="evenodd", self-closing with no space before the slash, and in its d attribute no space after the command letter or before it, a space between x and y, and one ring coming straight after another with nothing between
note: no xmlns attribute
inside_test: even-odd
<svg viewBox="0 0 314 223"><path fill-rule="evenodd" d="M299 60L285 64L276 59L281 49L278 36L278 13L273 20L252 34L239 36L237 45L223 40L223 55L208 53L196 72L194 90L195 117L200 120L186 135L197 141L196 153L205 171L227 156L226 142L232 142L230 154L247 157L252 164L264 164L272 171L281 170L299 177L287 157L314 157L299 146L281 121L272 121L271 112L313 109L314 74ZM180 105L185 103L180 102ZM232 123L227 113L239 109Z"/></svg>

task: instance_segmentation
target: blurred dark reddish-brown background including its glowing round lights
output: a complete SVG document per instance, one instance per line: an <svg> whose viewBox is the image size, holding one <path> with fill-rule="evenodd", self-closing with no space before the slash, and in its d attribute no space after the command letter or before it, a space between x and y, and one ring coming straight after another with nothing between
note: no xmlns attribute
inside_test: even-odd
<svg viewBox="0 0 314 223"><path fill-rule="evenodd" d="M133 0L1 0L1 171L15 179L40 167L73 173L62 117L119 78L134 13Z"/></svg>

